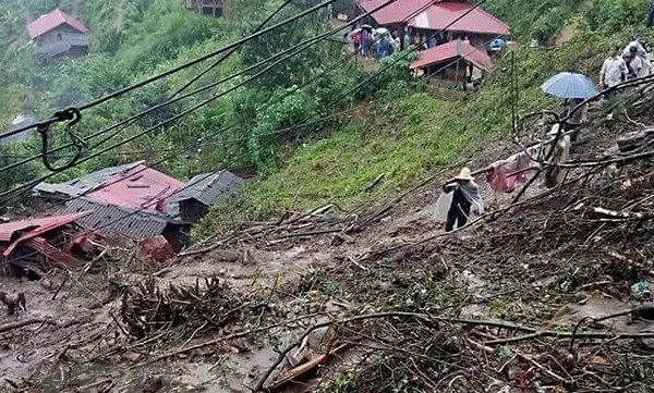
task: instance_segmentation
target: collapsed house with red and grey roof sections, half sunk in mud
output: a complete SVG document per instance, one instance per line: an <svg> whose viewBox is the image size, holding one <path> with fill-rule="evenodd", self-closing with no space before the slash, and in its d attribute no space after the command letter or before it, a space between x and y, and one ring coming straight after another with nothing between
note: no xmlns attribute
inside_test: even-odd
<svg viewBox="0 0 654 393"><path fill-rule="evenodd" d="M183 183L140 161L65 183L41 183L33 191L37 201L59 206L58 213L93 211L77 220L83 228L136 242L162 235L179 251L189 243L192 224L243 185L228 171Z"/></svg>

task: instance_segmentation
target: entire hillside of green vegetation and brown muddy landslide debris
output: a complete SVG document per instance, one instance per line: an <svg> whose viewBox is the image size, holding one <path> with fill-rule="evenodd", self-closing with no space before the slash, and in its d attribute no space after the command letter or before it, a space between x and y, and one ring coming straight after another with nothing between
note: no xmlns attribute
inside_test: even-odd
<svg viewBox="0 0 654 393"><path fill-rule="evenodd" d="M174 0L16 2L16 11L3 10L14 22L0 30L8 46L0 119L48 116L183 64L252 32L281 1L232 4L238 11L213 20ZM276 21L307 4L293 1ZM180 179L225 167L256 175L196 225L192 247L166 262L112 246L40 281L0 274L3 295L27 298L19 316L0 316L0 390L649 392L654 317L647 303L638 306L652 299L654 282L654 151L647 143L622 153L616 139L653 123L652 79L591 108L572 161L557 167L567 173L559 186L538 180L524 194L499 194L480 175L486 213L453 233L435 220L441 185L462 165L485 168L545 138L549 124L541 116L511 133L512 115L560 106L543 94L543 81L562 70L596 79L609 48L631 34L653 36L642 27L647 4L486 5L514 26L517 42L462 100L434 95L402 61L325 113L374 72L327 42L58 174L170 156L158 168ZM75 11L96 32L88 58L41 64L14 50L24 39L21 21L52 7ZM574 34L554 46L571 24ZM196 87L326 25L307 19L246 44ZM534 37L541 48L529 46ZM75 131L88 136L159 103L206 65L109 101ZM157 111L112 140L257 70ZM0 165L38 149L35 138L3 146ZM538 163L532 172L553 167ZM39 161L2 173L0 192L44 173Z"/></svg>

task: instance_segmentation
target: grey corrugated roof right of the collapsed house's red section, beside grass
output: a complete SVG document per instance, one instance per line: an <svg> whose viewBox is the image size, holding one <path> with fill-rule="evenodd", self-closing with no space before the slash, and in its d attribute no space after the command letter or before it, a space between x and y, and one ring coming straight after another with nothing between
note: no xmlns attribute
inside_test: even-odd
<svg viewBox="0 0 654 393"><path fill-rule="evenodd" d="M206 206L214 206L229 195L243 188L245 181L229 171L203 173L194 176L184 188L169 198L169 202L197 199Z"/></svg>

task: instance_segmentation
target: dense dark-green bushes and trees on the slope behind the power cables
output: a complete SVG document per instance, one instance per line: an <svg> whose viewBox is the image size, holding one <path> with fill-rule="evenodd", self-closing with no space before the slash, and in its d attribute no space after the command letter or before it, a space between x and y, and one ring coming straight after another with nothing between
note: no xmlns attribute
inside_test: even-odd
<svg viewBox="0 0 654 393"><path fill-rule="evenodd" d="M261 21L281 3L281 0L264 4L253 0L232 0L229 3L230 13L221 19L211 19L184 10L179 0L123 0L118 3L69 0L2 4L0 14L4 12L13 16L11 21L7 20L10 23L0 26L0 38L7 38L0 44L4 46L2 49L5 49L4 57L0 59L0 126L3 127L21 113L49 118L56 109L92 101L107 93L215 51L254 30ZM295 15L313 4L314 2L310 1L294 1L271 23ZM23 21L33 20L56 7L80 15L89 25L93 46L88 57L51 62L37 60L35 48L26 42ZM315 36L317 30L324 32L328 28L331 26L327 25L324 15L316 13L246 42L235 56L211 70L185 93L226 78ZM325 130L326 124L313 124L311 128L300 127L294 130L293 135L277 133L277 130L312 119L322 105L342 91L343 86L351 85L361 77L363 71L356 64L348 62L336 70L327 70L334 67L332 64L344 56L341 51L342 47L334 42L316 45L192 114L158 127L155 132L89 160L74 170L61 173L57 179L62 180L109 164L137 159L158 161L171 155L173 158L161 164L161 169L179 177L216 170L221 165L237 169L254 167L257 170L271 167L279 159L275 157L278 145L319 133ZM329 62L326 62L326 59ZM138 111L165 102L213 61L214 59L205 61L161 82L85 111L74 132L85 138ZM245 82L262 69L253 69L216 88L157 110L125 130L118 128L120 132L110 140L101 143L102 138L110 134L90 138L87 140L90 146L87 155L143 133L213 95L233 89L237 84ZM323 71L329 73L322 76L319 83L296 91L291 90ZM360 97L343 100L335 110L347 107L355 98ZM338 119L336 121L338 122ZM53 146L68 143L60 130L52 134ZM204 143L194 148L198 140ZM207 145L207 142L210 144ZM96 146L99 143L101 146ZM178 149L179 153L175 155L174 149ZM20 160L20 157L37 155L39 144L28 140L16 146L3 146L0 152L0 164L7 164ZM63 159L70 153L71 151L59 152L64 156ZM31 180L25 173L29 173L29 177L34 179L47 172L38 161L34 161L23 165L20 171L3 174L0 191Z"/></svg>

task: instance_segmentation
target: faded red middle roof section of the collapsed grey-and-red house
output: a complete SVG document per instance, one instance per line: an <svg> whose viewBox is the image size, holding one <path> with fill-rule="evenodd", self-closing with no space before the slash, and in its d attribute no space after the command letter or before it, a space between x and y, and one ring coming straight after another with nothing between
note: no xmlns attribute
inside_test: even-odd
<svg viewBox="0 0 654 393"><path fill-rule="evenodd" d="M158 210L158 202L183 186L184 183L177 179L138 164L110 177L86 197L107 205Z"/></svg>

